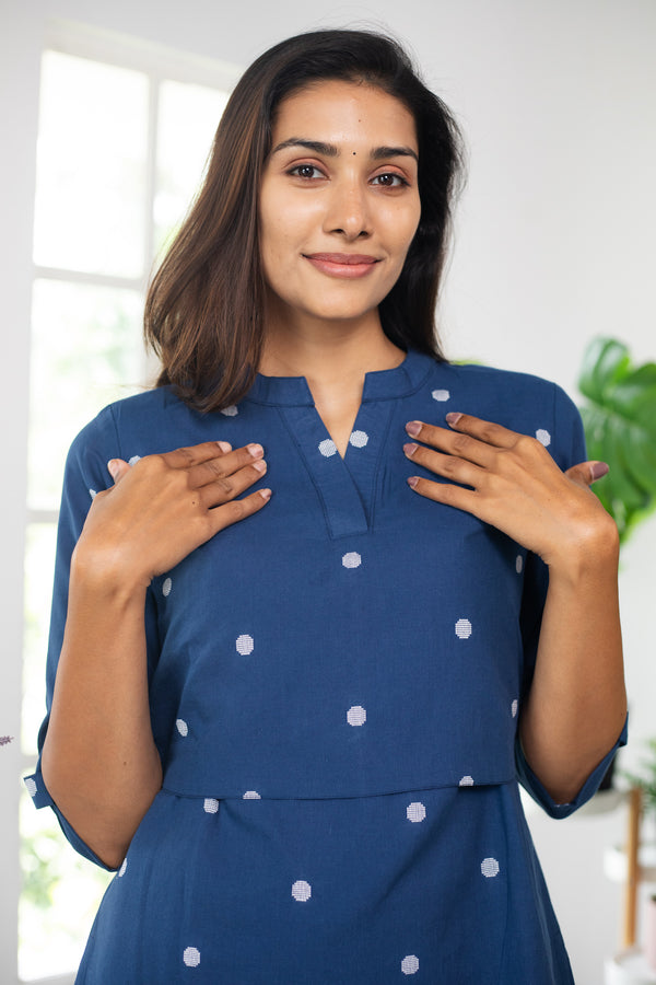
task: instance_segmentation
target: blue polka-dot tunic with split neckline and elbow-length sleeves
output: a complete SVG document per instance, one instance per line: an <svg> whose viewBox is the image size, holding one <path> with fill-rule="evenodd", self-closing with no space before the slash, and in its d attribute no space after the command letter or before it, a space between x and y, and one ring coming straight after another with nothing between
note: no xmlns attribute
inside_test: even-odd
<svg viewBox="0 0 656 985"><path fill-rule="evenodd" d="M565 816L614 750L564 806L522 755L547 571L407 485L436 478L406 459L407 421L441 425L449 409L537 437L563 470L585 460L559 387L413 351L366 375L343 459L303 378L258 376L238 407L207 415L154 390L107 407L73 443L48 708L70 556L112 484L109 459L257 441L273 490L149 589L163 788L80 982L572 982L517 781ZM27 785L55 807L39 770Z"/></svg>

